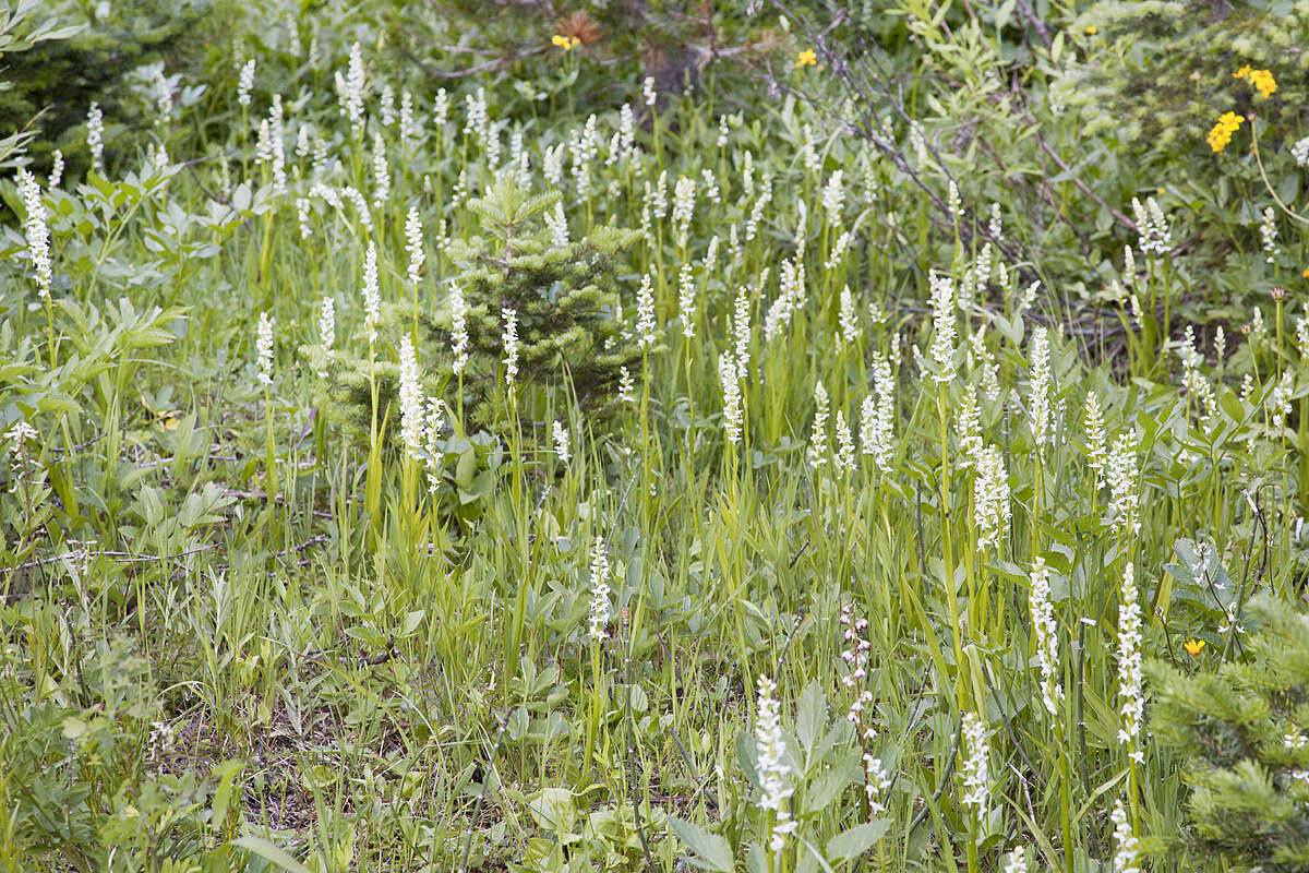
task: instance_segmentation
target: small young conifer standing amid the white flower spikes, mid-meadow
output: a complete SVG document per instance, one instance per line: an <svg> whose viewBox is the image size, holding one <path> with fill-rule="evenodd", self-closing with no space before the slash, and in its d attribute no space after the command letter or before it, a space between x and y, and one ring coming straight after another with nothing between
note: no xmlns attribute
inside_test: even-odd
<svg viewBox="0 0 1309 873"><path fill-rule="evenodd" d="M467 306L469 361L463 370L465 432L500 432L511 419L507 399L504 310L517 313L518 376L514 406L520 416L539 420L547 406L576 402L580 410L603 415L615 408L620 368L640 377L641 352L618 319L615 255L631 245L632 230L600 229L588 238L555 245L541 213L559 200L555 192L526 195L508 179L486 198L470 203L490 237L456 241L450 257L462 267L453 281ZM372 421L373 385L378 420L389 421L385 438L394 438L398 416L399 368L389 348L399 348L412 326L407 304L389 306L378 327L377 361L370 363L367 340L356 336L351 349L338 349L327 368L327 412L343 420L351 436L367 444ZM419 313L418 360L423 389L454 402L449 293L435 310ZM305 353L322 368L321 352ZM497 402L499 401L499 402ZM542 438L546 438L542 435Z"/></svg>

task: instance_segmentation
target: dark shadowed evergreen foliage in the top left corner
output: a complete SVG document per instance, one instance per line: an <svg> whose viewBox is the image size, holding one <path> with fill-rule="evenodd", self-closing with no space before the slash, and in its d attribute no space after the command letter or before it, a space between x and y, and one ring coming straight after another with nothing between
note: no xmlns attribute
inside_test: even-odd
<svg viewBox="0 0 1309 873"><path fill-rule="evenodd" d="M38 136L30 148L35 165L45 170L58 147L69 169L80 171L90 164L85 151L90 103L101 103L106 128L127 120L124 75L179 51L209 5L209 0L115 0L105 4L110 12L101 18L94 3L51 3L46 12L60 25L84 26L68 39L5 58L5 77L13 86L0 92L0 130L21 130L35 118ZM106 160L111 148L106 135Z"/></svg>

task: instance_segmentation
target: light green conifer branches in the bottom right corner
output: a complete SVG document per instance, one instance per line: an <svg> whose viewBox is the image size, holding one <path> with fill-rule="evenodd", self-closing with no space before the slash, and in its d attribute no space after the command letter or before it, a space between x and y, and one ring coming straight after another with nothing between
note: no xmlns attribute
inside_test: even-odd
<svg viewBox="0 0 1309 873"><path fill-rule="evenodd" d="M1155 738L1186 759L1190 848L1236 869L1309 865L1309 616L1257 601L1241 660L1187 675L1149 665Z"/></svg>

